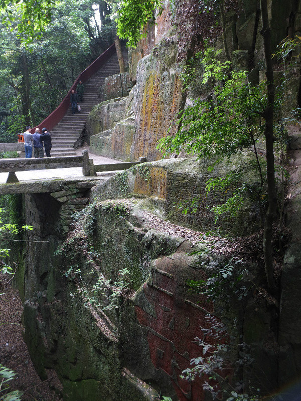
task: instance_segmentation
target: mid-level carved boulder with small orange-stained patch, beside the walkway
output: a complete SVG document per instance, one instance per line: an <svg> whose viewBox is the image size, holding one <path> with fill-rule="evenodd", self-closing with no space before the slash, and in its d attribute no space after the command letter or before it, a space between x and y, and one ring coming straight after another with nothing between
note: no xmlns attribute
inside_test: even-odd
<svg viewBox="0 0 301 401"><path fill-rule="evenodd" d="M233 159L231 164L222 164L210 174L207 164L199 163L195 158L142 163L94 187L92 196L149 196L153 205L177 224L200 231L221 230L224 233L247 235L258 228L258 211L253 210L251 203L246 202L236 219L224 216L216 221L212 207L224 203L231 192L211 191L208 194L206 191L209 178L224 175L238 162L239 159ZM188 201L193 199L196 202L189 206ZM185 208L187 212L184 214Z"/></svg>

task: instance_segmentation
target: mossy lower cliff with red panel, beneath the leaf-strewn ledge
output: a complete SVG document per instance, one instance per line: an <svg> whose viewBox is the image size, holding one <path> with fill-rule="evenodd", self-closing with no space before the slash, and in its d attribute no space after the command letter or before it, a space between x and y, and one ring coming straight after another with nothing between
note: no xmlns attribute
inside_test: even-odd
<svg viewBox="0 0 301 401"><path fill-rule="evenodd" d="M57 230L57 198L25 196L26 223L37 228L28 235L18 282L24 283L25 339L35 367L45 379L48 369L56 370L65 400L155 401L160 393L204 399L206 376L193 382L180 376L202 352L195 337L216 324L209 315L249 344L266 344L268 309L258 299L256 312L253 297L214 306L191 292L188 280L206 277L227 258L212 249L211 239L193 245L199 234L166 223L147 197L106 199L106 192L120 197L114 185L95 188L91 198L102 193L104 200L75 218L65 240ZM200 255L189 256L198 249ZM267 356L264 384L272 388L275 355L258 344L256 350Z"/></svg>

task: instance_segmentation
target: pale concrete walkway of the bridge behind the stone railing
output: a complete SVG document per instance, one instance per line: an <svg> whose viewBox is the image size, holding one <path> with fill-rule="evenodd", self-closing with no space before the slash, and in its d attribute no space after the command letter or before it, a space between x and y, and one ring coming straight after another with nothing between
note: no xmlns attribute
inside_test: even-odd
<svg viewBox="0 0 301 401"><path fill-rule="evenodd" d="M83 150L89 150L89 146L86 145L82 148L76 149L76 154L78 156L82 155ZM93 159L94 164L111 164L111 163L121 163L121 161L109 159L108 157L98 156L96 154L89 153L89 158ZM0 159L1 160L1 159ZM21 159L20 159L21 160ZM8 178L8 172L0 173L0 183L5 183ZM30 170L30 171L17 171L16 175L19 181L27 180L44 180L48 178L73 178L82 177L83 170L82 167L71 167L71 168L53 168L49 170ZM97 173L98 176L111 176L112 172L109 173Z"/></svg>

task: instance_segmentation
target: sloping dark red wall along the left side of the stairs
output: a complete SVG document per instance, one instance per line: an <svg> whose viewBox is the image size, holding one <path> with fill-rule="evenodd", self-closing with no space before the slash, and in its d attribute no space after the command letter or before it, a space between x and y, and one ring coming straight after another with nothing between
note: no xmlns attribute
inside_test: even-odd
<svg viewBox="0 0 301 401"><path fill-rule="evenodd" d="M93 61L84 71L82 71L79 76L74 81L74 84L70 88L69 92L62 100L60 105L51 113L48 117L45 118L41 124L37 125L36 127L32 128L31 132L35 132L36 128L40 128L40 132L42 132L42 128L46 127L49 131L52 130L53 127L57 125L58 122L64 117L66 111L70 107L70 96L71 91L74 89L76 91L76 86L79 81L87 81L89 78L92 77L96 71L115 53L115 45L113 44L110 46L105 52L103 52L96 60Z"/></svg>

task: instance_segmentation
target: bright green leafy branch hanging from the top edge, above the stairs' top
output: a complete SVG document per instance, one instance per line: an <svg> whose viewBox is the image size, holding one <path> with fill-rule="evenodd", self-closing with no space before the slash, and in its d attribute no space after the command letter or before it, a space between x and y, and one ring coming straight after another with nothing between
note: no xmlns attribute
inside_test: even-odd
<svg viewBox="0 0 301 401"><path fill-rule="evenodd" d="M124 0L120 3L117 19L117 35L127 39L127 46L136 47L139 40L146 38L147 23L155 23L154 12L163 11L161 0Z"/></svg>

